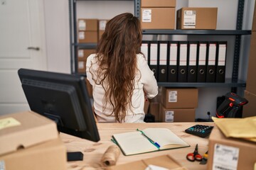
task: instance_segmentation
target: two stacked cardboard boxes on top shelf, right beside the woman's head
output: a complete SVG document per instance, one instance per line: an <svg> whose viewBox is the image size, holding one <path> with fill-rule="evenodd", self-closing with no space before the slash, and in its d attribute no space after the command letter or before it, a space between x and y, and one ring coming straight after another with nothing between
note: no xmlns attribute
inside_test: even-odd
<svg viewBox="0 0 256 170"><path fill-rule="evenodd" d="M142 0L140 21L142 29L175 28L176 0Z"/></svg>

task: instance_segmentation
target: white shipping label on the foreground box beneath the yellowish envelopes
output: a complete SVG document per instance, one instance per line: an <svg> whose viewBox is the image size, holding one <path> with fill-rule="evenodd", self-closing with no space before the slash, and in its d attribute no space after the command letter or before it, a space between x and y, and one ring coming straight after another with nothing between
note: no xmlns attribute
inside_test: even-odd
<svg viewBox="0 0 256 170"><path fill-rule="evenodd" d="M213 170L236 170L238 168L239 148L220 145L214 145Z"/></svg>

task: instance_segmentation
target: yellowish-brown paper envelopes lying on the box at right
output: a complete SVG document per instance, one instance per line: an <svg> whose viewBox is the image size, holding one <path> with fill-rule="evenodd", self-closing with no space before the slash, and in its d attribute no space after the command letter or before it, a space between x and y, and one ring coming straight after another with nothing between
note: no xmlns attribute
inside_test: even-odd
<svg viewBox="0 0 256 170"><path fill-rule="evenodd" d="M214 118L214 123L225 137L242 138L256 142L256 116L248 118Z"/></svg>

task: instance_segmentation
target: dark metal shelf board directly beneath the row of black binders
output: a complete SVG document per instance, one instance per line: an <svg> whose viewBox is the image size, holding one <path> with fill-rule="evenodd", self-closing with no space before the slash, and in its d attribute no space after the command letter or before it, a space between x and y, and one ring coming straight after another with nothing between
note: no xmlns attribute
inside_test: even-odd
<svg viewBox="0 0 256 170"><path fill-rule="evenodd" d="M238 80L232 82L231 79L226 79L225 83L198 83L198 82L158 82L159 86L166 87L245 87L245 81Z"/></svg>

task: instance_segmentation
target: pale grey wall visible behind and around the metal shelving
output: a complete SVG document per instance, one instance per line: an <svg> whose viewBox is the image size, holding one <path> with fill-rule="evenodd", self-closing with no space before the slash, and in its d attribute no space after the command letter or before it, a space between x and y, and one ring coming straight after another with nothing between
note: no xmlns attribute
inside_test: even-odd
<svg viewBox="0 0 256 170"><path fill-rule="evenodd" d="M70 46L69 46L69 21L68 0L44 0L46 11L46 41L49 70L61 72L70 71ZM131 12L134 13L134 1L77 1L78 18L108 19L113 16ZM243 18L243 29L250 30L252 27L252 13L255 0L245 0L245 12ZM236 27L236 13L238 0L176 0L176 10L184 5L191 7L218 7L217 28L221 30L234 30ZM146 38L146 37L145 37ZM152 36L147 38L153 38ZM193 37L192 37L193 38ZM215 38L220 38L215 36ZM223 37L221 37L223 38ZM220 38L220 39L221 39ZM163 39L163 37L158 37ZM204 39L204 38L202 38ZM233 36L228 36L228 63L233 63ZM239 78L246 80L247 56L250 45L250 35L242 36L241 58ZM227 77L232 76L232 64L227 65ZM225 95L230 88L198 88L199 106L196 110L196 118L208 118L206 114L210 111L215 115L216 98ZM243 88L238 89L238 94L243 95Z"/></svg>

